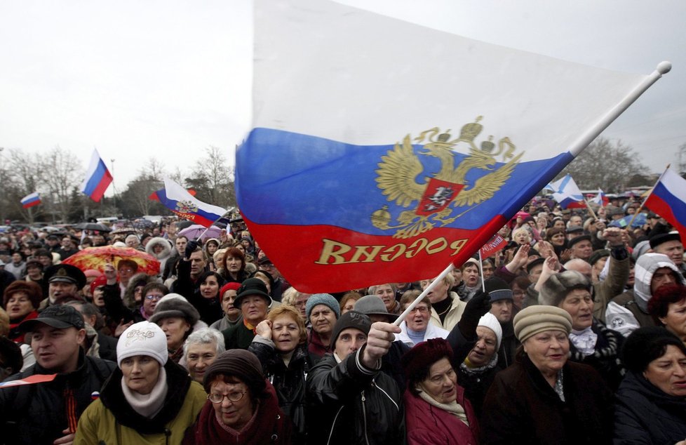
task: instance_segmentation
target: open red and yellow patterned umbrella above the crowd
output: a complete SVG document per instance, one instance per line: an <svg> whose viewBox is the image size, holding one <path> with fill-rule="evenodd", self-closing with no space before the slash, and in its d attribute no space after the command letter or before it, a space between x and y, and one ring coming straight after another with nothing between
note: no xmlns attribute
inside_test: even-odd
<svg viewBox="0 0 686 445"><path fill-rule="evenodd" d="M81 270L95 269L104 272L107 263L112 263L116 267L120 260L135 261L138 265L137 273L156 275L160 272L160 262L154 256L130 247L88 247L74 253L62 263L79 267Z"/></svg>

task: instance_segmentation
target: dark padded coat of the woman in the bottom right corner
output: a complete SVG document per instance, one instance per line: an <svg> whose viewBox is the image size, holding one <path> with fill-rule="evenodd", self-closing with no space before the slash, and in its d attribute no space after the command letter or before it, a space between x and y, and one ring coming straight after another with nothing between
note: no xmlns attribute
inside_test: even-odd
<svg viewBox="0 0 686 445"><path fill-rule="evenodd" d="M686 399L665 394L633 372L617 391L614 444L675 444L686 439Z"/></svg>

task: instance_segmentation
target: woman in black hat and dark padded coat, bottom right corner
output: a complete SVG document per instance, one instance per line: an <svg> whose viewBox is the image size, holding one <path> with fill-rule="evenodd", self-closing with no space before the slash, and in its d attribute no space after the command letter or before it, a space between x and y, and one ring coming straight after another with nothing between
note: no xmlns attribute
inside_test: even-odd
<svg viewBox="0 0 686 445"><path fill-rule="evenodd" d="M628 369L617 392L615 444L678 444L686 438L686 345L658 326L624 343Z"/></svg>

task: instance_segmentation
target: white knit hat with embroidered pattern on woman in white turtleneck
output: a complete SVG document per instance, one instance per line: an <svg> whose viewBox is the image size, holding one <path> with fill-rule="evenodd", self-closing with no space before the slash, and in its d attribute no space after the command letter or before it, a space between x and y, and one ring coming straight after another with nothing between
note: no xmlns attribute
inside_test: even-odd
<svg viewBox="0 0 686 445"><path fill-rule="evenodd" d="M147 355L166 364L169 357L167 338L162 328L149 321L140 321L126 328L116 343L116 364L121 368L121 361L135 355Z"/></svg>

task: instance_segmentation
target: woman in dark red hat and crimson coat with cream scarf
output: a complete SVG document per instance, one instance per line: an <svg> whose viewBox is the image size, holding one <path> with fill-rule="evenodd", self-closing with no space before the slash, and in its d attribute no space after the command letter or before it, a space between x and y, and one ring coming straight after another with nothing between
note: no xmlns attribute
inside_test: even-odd
<svg viewBox="0 0 686 445"><path fill-rule="evenodd" d="M477 444L479 427L464 389L457 385L452 347L443 338L419 343L403 355L408 389L405 423L410 445Z"/></svg>

